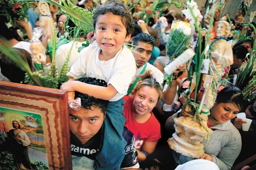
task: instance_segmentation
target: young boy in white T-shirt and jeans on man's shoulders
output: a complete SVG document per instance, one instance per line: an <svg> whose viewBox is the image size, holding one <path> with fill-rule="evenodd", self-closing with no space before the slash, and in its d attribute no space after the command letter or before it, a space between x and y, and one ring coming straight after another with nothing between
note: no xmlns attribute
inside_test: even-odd
<svg viewBox="0 0 256 170"><path fill-rule="evenodd" d="M126 145L122 137L125 121L122 98L135 75L136 63L124 42L130 39L135 23L127 6L116 1L97 7L93 22L96 41L80 52L67 74L71 79L61 89L69 91L69 101L74 99L74 91L110 101L104 119L105 140L96 156L95 166L113 170L120 167ZM83 77L102 79L108 86L74 81Z"/></svg>

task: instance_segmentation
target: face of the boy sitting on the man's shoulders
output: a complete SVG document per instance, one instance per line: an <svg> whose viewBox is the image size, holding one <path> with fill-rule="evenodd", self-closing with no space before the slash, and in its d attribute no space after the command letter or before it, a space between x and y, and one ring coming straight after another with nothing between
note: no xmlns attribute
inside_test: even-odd
<svg viewBox="0 0 256 170"><path fill-rule="evenodd" d="M98 16L94 35L101 48L100 56L113 58L124 41L130 40L131 34L126 36L126 27L121 19L121 16L112 13Z"/></svg>

